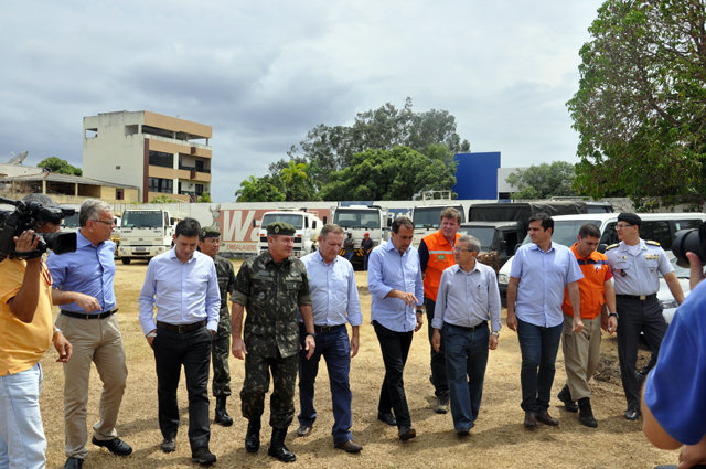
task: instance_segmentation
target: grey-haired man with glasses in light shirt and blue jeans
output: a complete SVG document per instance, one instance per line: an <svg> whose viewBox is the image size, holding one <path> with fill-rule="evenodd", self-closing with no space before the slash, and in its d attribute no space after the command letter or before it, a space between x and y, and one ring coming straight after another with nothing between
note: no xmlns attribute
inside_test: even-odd
<svg viewBox="0 0 706 469"><path fill-rule="evenodd" d="M431 343L441 349L441 329L451 397L453 428L467 436L478 418L483 396L488 350L495 350L500 332L500 290L495 270L477 262L480 242L461 236L453 247L456 265L441 274L431 321ZM491 331L488 330L491 321Z"/></svg>

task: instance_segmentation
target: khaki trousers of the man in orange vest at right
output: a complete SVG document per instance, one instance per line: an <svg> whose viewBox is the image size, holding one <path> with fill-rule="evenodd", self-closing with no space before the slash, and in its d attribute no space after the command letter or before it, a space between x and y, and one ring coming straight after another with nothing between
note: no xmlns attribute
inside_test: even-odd
<svg viewBox="0 0 706 469"><path fill-rule="evenodd" d="M591 397L588 381L593 377L600 356L600 316L582 321L584 330L578 333L571 332L574 318L564 315L561 350L566 366L566 384L569 386L573 401Z"/></svg>

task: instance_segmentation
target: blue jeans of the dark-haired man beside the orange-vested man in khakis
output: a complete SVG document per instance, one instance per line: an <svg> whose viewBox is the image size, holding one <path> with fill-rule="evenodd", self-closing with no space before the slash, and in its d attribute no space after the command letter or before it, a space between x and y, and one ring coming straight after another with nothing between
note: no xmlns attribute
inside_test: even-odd
<svg viewBox="0 0 706 469"><path fill-rule="evenodd" d="M517 318L517 340L522 352L520 382L522 408L525 412L543 412L549 408L563 328L564 324L542 328Z"/></svg>

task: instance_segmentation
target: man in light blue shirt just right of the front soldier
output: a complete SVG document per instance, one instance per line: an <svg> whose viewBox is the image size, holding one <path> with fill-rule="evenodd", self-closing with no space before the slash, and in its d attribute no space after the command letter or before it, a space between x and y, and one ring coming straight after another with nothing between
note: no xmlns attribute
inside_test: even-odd
<svg viewBox="0 0 706 469"><path fill-rule="evenodd" d="M339 256L343 244L343 230L328 224L321 228L319 249L301 258L307 267L311 289L313 323L317 348L307 359L303 339L307 328L299 316L301 351L299 352L299 424L297 435L311 434L317 409L313 406L314 381L319 372L319 361L323 355L329 369L331 401L333 406L333 445L346 452L359 452L362 447L353 441L351 427L351 386L349 374L351 359L357 353L359 327L363 323L361 302L355 285L355 273L351 263ZM349 343L346 323L351 324Z"/></svg>

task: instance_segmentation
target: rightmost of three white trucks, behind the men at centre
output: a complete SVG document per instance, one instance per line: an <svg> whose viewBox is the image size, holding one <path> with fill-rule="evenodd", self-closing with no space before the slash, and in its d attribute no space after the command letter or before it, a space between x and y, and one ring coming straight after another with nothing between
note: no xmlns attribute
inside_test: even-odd
<svg viewBox="0 0 706 469"><path fill-rule="evenodd" d="M351 259L353 264L363 265L363 249L361 243L365 233L371 234L371 239L375 246L386 243L389 239L389 227L393 220L387 214L387 209L377 205L349 205L331 207L332 223L341 226L344 231L351 232L355 242L355 254ZM325 223L325 217L323 218ZM347 237L347 236L346 236ZM341 249L341 254L344 249Z"/></svg>

